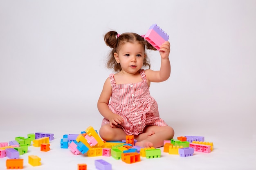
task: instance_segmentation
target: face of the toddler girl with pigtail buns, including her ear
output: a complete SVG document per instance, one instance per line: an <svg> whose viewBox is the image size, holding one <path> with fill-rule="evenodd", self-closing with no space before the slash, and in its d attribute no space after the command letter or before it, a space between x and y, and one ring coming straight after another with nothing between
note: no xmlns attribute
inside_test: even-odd
<svg viewBox="0 0 256 170"><path fill-rule="evenodd" d="M117 63L120 63L122 71L127 73L137 73L143 66L144 48L138 42L124 43L118 53L114 53Z"/></svg>

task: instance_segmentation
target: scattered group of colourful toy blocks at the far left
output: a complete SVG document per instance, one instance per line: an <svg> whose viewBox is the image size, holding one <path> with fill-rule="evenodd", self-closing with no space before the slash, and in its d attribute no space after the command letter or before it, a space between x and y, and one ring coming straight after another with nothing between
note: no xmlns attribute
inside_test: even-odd
<svg viewBox="0 0 256 170"><path fill-rule="evenodd" d="M47 152L50 150L49 140L54 139L54 134L50 133L30 133L25 137L16 137L15 140L8 142L0 142L0 158L8 157L6 160L7 169L22 169L23 159L20 155L27 153L28 147L31 146L31 141L34 147L40 147L41 151ZM35 155L29 155L29 164L32 166L39 166L40 158Z"/></svg>

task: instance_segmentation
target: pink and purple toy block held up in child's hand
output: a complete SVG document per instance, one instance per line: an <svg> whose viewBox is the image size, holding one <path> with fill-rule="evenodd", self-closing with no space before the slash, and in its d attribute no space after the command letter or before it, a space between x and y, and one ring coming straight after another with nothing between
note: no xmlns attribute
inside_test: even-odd
<svg viewBox="0 0 256 170"><path fill-rule="evenodd" d="M169 40L169 35L167 35L157 24L153 24L149 27L146 35L144 36L155 49L159 50L160 46Z"/></svg>

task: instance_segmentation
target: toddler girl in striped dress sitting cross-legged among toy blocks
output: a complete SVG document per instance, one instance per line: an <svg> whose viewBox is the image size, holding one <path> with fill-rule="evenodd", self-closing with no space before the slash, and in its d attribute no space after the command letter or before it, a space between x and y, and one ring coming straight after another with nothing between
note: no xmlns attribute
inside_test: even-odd
<svg viewBox="0 0 256 170"><path fill-rule="evenodd" d="M153 71L142 67L150 68L145 48L156 49L141 35L109 31L104 39L112 49L107 66L117 73L109 75L99 97L98 109L104 117L99 135L105 141L121 141L126 135L134 135L137 146L163 146L164 140L173 138L174 130L159 118L149 86L170 76L170 43L160 47L161 67Z"/></svg>

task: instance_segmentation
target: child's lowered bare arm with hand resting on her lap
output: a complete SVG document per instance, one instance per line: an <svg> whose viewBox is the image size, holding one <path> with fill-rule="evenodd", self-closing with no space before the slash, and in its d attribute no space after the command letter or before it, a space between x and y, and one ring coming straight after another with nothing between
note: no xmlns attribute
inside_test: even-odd
<svg viewBox="0 0 256 170"><path fill-rule="evenodd" d="M113 127L113 124L114 125L121 124L124 121L124 119L119 115L113 113L109 109L108 103L109 103L111 94L112 94L112 87L111 87L110 79L107 78L103 85L103 89L99 97L97 106L101 115L106 119L108 119L110 121L110 126Z"/></svg>

